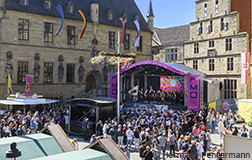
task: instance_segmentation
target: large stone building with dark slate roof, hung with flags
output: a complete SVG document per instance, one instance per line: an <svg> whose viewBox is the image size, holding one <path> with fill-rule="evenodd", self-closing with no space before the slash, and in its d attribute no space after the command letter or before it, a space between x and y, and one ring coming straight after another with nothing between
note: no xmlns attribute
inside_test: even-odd
<svg viewBox="0 0 252 160"><path fill-rule="evenodd" d="M64 12L62 31L56 7ZM126 43L121 53L136 53L136 61L151 58L152 32L134 0L4 0L1 1L0 31L0 97L6 97L7 74L12 77L15 92L25 92L26 75L33 75L32 93L51 99L66 100L84 95L92 88L107 95L109 73L113 66L89 64L99 51L117 52L120 17L127 19ZM78 10L86 15L84 37ZM1 18L0 17L0 18ZM148 16L153 21L154 16ZM133 46L137 38L134 20L141 26L140 47ZM149 25L149 26L148 26ZM99 90L98 90L99 91ZM100 92L100 91L99 91Z"/></svg>

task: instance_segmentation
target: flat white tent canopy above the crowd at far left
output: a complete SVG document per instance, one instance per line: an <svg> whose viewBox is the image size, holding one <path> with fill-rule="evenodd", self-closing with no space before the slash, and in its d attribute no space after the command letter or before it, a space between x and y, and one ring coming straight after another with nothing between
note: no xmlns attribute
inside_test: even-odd
<svg viewBox="0 0 252 160"><path fill-rule="evenodd" d="M50 104L56 102L58 102L58 100L50 100L44 98L30 98L30 97L7 98L7 100L0 100L0 104L12 105L12 106Z"/></svg>

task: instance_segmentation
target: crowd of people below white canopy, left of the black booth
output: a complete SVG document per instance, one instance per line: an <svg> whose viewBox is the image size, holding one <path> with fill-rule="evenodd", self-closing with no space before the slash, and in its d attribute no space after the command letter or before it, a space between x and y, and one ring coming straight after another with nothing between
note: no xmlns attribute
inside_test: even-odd
<svg viewBox="0 0 252 160"><path fill-rule="evenodd" d="M0 109L0 137L22 136L38 133L48 125L59 124L66 132L69 126L69 110L65 107L47 106L39 112L33 108L27 113L20 110Z"/></svg>

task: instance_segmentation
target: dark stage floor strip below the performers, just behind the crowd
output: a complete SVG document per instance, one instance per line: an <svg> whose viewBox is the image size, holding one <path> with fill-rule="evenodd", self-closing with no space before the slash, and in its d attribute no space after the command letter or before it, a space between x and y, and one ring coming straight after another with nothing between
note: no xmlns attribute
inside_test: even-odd
<svg viewBox="0 0 252 160"><path fill-rule="evenodd" d="M124 107L122 108L123 112L128 111L129 109L138 109L138 108L145 108L145 109L157 109L159 111L161 110L187 110L186 106L179 105L179 104L147 104L147 103L129 103L129 102L123 102Z"/></svg>

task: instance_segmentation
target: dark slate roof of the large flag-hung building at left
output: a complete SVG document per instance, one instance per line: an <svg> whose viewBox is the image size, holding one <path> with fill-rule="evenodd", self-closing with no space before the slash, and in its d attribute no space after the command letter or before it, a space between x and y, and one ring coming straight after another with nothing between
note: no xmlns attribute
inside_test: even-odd
<svg viewBox="0 0 252 160"><path fill-rule="evenodd" d="M53 0L52 8L49 10L44 8L42 0L30 0L29 6L20 5L19 0L8 0L6 1L6 9L60 18L60 14L58 13L56 7L61 4L65 19L83 21L81 15L78 13L78 10L82 9L86 15L87 21L93 23L90 15L90 4L93 1L97 0L72 0L74 4L73 13L67 12L67 3L69 0ZM139 15L141 30L151 32L134 0L100 0L97 2L99 3L99 24L122 27L122 23L119 18L126 12L128 14L126 28L136 30L134 20L135 16ZM113 20L108 20L107 18L107 11L110 8L113 10Z"/></svg>

